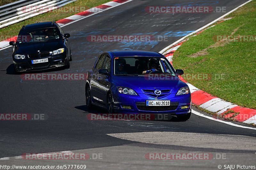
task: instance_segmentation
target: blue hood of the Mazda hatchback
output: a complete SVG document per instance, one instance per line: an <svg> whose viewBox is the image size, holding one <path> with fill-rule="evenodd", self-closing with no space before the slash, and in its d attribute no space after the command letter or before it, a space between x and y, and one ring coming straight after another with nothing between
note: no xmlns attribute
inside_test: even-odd
<svg viewBox="0 0 256 170"><path fill-rule="evenodd" d="M171 93L177 93L182 87L188 85L177 76L156 77L156 76L115 76L112 79L117 86L127 87L137 93L143 93L141 89L172 89Z"/></svg>

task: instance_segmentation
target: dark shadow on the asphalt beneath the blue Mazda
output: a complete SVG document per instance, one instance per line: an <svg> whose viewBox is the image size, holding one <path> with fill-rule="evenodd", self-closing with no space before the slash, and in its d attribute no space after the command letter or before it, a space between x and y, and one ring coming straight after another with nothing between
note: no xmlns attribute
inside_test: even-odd
<svg viewBox="0 0 256 170"><path fill-rule="evenodd" d="M87 108L86 105L81 105L81 106L75 106L76 109L78 110L82 110L84 111L83 113L85 113L87 115L87 117L90 115L90 114L96 114L96 115L102 115L104 114L104 117L105 115L108 114L107 110L104 110L103 108L100 108L100 107L97 107L97 106L92 106L93 108L92 109L89 109ZM118 113L115 113L115 114L118 114ZM150 120L140 120L140 121L157 121L157 122L186 122L184 120L180 120L178 119L176 116L172 116L172 115L168 115L168 116L163 116L161 114L150 114L149 116L149 119ZM113 118L111 116L108 116L108 118ZM129 119L128 119L129 120ZM134 120L133 117L132 119L130 120Z"/></svg>

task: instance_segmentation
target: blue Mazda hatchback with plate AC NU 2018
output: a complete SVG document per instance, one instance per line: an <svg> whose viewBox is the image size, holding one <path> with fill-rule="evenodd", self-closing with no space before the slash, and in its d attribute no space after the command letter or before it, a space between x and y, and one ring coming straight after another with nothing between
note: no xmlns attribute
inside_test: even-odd
<svg viewBox="0 0 256 170"><path fill-rule="evenodd" d="M188 120L191 94L178 77L182 74L157 52L104 52L87 73L86 105L108 113L171 114Z"/></svg>

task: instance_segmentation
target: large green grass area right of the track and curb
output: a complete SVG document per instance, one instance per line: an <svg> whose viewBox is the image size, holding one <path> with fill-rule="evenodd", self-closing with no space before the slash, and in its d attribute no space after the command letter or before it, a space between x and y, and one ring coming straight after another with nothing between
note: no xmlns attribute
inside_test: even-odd
<svg viewBox="0 0 256 170"><path fill-rule="evenodd" d="M216 35L256 35L256 1L231 13L224 21L190 37L174 53L173 66L185 74L207 73L210 80L188 80L197 88L228 102L256 109L256 41L230 42L216 45ZM212 46L214 45L215 46ZM191 57L209 46L205 55Z"/></svg>

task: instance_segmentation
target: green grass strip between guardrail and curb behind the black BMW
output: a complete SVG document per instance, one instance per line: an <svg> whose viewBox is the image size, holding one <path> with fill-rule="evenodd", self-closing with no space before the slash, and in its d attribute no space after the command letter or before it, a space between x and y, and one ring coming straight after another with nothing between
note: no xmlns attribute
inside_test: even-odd
<svg viewBox="0 0 256 170"><path fill-rule="evenodd" d="M90 9L92 7L104 4L106 2L109 2L111 0L77 0L74 3L70 3L62 7L63 9L66 9L66 7L86 7L85 9ZM59 10L61 11L61 10ZM62 10L63 11L63 10ZM64 10L65 11L65 10ZM82 11L81 11L82 12ZM47 22L47 21L58 21L60 19L69 17L71 15L76 14L77 12L46 12L40 15L37 15L33 18L28 18L24 21L21 21L19 23L15 23L13 25L9 25L7 27L1 28L0 29L0 35L1 35L1 41L7 38L10 38L8 36L16 36L18 35L21 27L23 25L28 25L28 24L34 24L38 22Z"/></svg>

